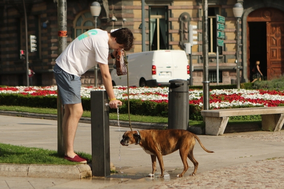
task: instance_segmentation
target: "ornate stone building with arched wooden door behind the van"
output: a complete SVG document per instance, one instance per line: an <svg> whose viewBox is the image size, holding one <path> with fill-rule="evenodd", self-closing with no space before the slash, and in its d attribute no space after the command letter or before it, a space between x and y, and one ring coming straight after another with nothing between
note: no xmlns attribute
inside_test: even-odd
<svg viewBox="0 0 284 189"><path fill-rule="evenodd" d="M24 0L27 14L27 36L35 35L37 51L29 53L29 66L35 72L33 85L54 85L52 68L58 57L57 0ZM67 42L94 28L90 5L94 0L67 0ZM134 32L134 48L142 51L139 32L141 0L98 0L101 14L97 28L127 27ZM218 47L219 84L236 79L235 3L244 13L240 21L241 82L252 80L252 68L260 61L267 79L284 73L284 1L283 0L208 0L208 43L210 85L217 81L216 16L225 17L224 46ZM192 47L193 85L201 85L202 63L202 0L145 0L146 50L184 49L188 42L188 25L197 26L198 44ZM141 27L140 27L141 28ZM30 47L29 47L30 48ZM23 0L0 0L0 85L26 85L26 60L20 59L26 49ZM113 60L109 62L113 69ZM83 85L94 85L94 69L82 76ZM101 84L99 73L99 84Z"/></svg>

